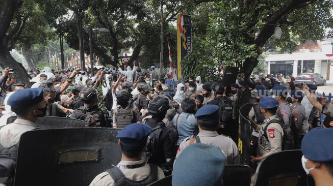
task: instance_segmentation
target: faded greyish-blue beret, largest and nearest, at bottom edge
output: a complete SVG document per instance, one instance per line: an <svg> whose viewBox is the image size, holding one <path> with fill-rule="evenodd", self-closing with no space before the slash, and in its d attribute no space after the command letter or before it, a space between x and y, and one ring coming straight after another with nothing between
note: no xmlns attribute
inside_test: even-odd
<svg viewBox="0 0 333 186"><path fill-rule="evenodd" d="M186 147L173 165L172 185L220 185L226 157L221 149L203 143Z"/></svg>

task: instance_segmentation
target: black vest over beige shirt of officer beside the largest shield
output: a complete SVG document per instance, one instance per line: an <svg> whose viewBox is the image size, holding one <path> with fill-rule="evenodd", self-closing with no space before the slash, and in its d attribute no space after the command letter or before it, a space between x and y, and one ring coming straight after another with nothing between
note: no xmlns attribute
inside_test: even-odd
<svg viewBox="0 0 333 186"><path fill-rule="evenodd" d="M126 178L126 176L121 172L121 170L118 167L113 167L106 171L110 174L110 176L116 183L116 186L126 186L126 185L144 186L148 185L149 183L157 181L158 178L158 167L155 164L150 164L149 166L150 166L150 173L146 178L140 181L133 181L129 178Z"/></svg>

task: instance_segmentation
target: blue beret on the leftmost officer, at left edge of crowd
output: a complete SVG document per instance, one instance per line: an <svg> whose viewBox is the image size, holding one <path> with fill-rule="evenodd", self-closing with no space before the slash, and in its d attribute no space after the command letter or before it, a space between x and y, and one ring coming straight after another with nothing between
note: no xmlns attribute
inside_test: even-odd
<svg viewBox="0 0 333 186"><path fill-rule="evenodd" d="M43 88L27 88L15 92L9 97L7 104L11 108L29 108L43 101Z"/></svg>

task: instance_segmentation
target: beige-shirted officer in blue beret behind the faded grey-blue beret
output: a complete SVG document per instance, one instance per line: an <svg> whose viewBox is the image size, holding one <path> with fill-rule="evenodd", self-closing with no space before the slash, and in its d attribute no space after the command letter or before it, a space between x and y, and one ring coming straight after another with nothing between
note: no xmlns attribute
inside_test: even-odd
<svg viewBox="0 0 333 186"><path fill-rule="evenodd" d="M228 136L219 135L216 129L220 125L219 107L216 105L204 105L195 114L199 133L196 137L190 136L184 139L178 148L176 158L182 150L193 143L204 143L219 147L226 155L227 165L240 164L240 156L236 143Z"/></svg>

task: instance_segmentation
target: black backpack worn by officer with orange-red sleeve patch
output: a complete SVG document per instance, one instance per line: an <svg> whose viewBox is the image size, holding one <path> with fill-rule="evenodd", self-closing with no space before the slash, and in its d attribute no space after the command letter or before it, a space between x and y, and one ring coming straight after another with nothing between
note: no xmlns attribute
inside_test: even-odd
<svg viewBox="0 0 333 186"><path fill-rule="evenodd" d="M265 136L266 140L269 142L266 131L267 131L268 126L273 122L279 123L279 125L281 126L281 128L283 129L283 132L284 132L284 138L282 141L282 150L293 149L294 148L294 134L293 134L292 130L290 129L289 125L285 125L285 123L281 119L272 119L267 122L267 124L264 128L264 136Z"/></svg>

